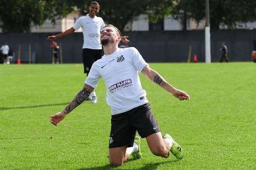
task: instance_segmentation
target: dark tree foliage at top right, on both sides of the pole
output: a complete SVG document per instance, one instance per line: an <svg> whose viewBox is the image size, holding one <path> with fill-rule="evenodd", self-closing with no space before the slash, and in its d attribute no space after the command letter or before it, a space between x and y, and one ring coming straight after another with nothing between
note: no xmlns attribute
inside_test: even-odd
<svg viewBox="0 0 256 170"><path fill-rule="evenodd" d="M251 0L209 0L210 27L219 29L220 25L236 27L237 22L249 22L256 19L256 1ZM184 20L193 18L197 22L205 18L205 0L180 0L172 14Z"/></svg>

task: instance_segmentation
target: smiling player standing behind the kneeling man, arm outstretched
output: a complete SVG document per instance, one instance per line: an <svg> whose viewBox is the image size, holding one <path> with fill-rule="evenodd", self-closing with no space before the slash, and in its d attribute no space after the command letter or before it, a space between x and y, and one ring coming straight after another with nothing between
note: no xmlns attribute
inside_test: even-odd
<svg viewBox="0 0 256 170"><path fill-rule="evenodd" d="M47 37L48 40L56 40L63 36L70 35L82 27L82 34L84 35L82 61L84 63L84 73L87 76L93 63L103 55L102 45L100 42L100 31L105 26L103 19L96 16L100 11L100 4L97 1L90 2L88 10L89 14L77 19L73 27L67 29L63 33L59 33L58 35ZM97 103L96 92L92 91L92 94L90 94L87 100L91 100L92 103Z"/></svg>

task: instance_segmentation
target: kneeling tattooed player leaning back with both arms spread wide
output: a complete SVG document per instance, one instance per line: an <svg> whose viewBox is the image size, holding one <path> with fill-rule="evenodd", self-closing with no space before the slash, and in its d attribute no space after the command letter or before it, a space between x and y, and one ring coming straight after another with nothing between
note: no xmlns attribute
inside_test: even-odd
<svg viewBox="0 0 256 170"><path fill-rule="evenodd" d="M93 63L84 88L63 111L51 116L51 123L56 126L69 112L85 101L102 77L107 87L106 101L112 109L110 165L122 165L131 154L141 158L140 138L135 137L136 131L142 138L146 138L152 154L168 158L171 152L177 159L182 159L183 150L180 145L169 134L162 137L138 73L143 73L148 80L179 100L189 100L189 95L174 88L152 70L136 48L118 48L121 33L113 25L106 25L100 37L105 55Z"/></svg>

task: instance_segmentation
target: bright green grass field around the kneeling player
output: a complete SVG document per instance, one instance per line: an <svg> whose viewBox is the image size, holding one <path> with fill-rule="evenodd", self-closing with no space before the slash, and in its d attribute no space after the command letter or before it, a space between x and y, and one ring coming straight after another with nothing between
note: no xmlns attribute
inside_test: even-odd
<svg viewBox="0 0 256 170"><path fill-rule="evenodd" d="M143 158L114 169L256 169L256 64L151 63L191 95L179 101L141 76L162 133L184 158L158 158L142 140ZM83 86L81 64L0 65L0 169L110 169L110 109L105 84L98 103L83 103L55 127Z"/></svg>

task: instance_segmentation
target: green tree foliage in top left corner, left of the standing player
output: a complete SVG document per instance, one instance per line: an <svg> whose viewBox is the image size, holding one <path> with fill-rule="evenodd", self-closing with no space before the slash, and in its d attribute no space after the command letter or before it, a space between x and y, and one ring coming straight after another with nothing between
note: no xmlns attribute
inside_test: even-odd
<svg viewBox="0 0 256 170"><path fill-rule="evenodd" d="M61 0L1 0L0 11L3 32L30 32L31 25L41 25L46 19L54 23L72 7Z"/></svg>

